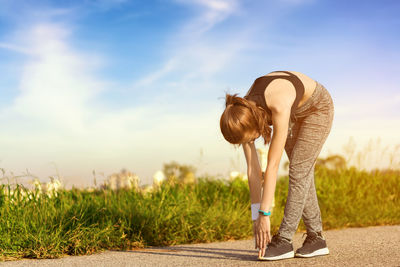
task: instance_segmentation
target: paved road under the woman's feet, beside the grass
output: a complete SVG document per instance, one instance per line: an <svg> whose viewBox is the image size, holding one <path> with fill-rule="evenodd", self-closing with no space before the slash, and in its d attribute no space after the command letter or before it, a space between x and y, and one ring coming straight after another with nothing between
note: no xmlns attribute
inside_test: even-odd
<svg viewBox="0 0 400 267"><path fill-rule="evenodd" d="M400 225L325 231L330 254L310 259L257 261L254 240L106 251L61 259L9 261L0 266L400 266ZM294 248L301 246L296 233Z"/></svg>

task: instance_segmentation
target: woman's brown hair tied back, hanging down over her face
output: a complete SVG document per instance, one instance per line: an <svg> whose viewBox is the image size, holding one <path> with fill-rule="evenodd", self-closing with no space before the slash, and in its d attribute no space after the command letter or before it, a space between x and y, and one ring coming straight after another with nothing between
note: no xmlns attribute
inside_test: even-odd
<svg viewBox="0 0 400 267"><path fill-rule="evenodd" d="M271 142L271 127L268 125L269 115L262 107L238 94L225 94L225 110L221 115L221 132L231 144L242 144L260 134L264 144Z"/></svg>

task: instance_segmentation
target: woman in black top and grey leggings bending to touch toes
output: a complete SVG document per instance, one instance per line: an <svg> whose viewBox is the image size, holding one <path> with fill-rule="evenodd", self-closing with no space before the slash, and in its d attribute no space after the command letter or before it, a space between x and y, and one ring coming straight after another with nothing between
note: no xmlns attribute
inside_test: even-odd
<svg viewBox="0 0 400 267"><path fill-rule="evenodd" d="M322 236L314 167L331 130L333 113L333 101L326 88L295 71L274 71L257 78L244 98L226 94L221 132L228 142L243 147L254 236L261 260L329 254ZM269 144L264 172L254 146L260 136L265 145ZM284 149L289 158L288 197L279 231L271 238L269 215ZM307 237L294 253L292 238L301 218Z"/></svg>

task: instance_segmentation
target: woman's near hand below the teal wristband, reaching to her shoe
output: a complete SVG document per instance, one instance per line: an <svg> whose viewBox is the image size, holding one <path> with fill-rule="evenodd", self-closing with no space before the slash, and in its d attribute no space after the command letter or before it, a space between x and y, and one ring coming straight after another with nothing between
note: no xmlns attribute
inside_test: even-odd
<svg viewBox="0 0 400 267"><path fill-rule="evenodd" d="M258 257L265 254L266 245L271 242L271 222L269 216L261 215L254 221L253 229L255 232L256 248L259 248Z"/></svg>

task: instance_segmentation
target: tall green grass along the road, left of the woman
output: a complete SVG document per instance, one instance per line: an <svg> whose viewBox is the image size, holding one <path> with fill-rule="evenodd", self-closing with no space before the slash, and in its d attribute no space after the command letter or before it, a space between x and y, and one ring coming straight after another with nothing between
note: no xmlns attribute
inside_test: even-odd
<svg viewBox="0 0 400 267"><path fill-rule="evenodd" d="M0 255L52 258L102 249L248 237L249 191L236 179L163 184L150 193L111 189L32 195L0 185Z"/></svg>

